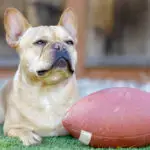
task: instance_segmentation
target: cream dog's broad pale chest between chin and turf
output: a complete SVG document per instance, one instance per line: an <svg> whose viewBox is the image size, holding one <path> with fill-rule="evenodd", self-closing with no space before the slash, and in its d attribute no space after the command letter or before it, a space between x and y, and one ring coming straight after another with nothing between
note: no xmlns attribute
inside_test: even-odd
<svg viewBox="0 0 150 150"><path fill-rule="evenodd" d="M66 134L62 120L67 110L78 100L76 79L71 78L67 84L53 89L15 83L15 98L11 101L24 116L20 121L40 136Z"/></svg>

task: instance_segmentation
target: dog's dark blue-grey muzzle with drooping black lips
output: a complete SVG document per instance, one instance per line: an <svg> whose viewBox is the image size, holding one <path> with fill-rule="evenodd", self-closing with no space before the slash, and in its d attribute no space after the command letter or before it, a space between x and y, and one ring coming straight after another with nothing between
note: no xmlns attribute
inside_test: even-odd
<svg viewBox="0 0 150 150"><path fill-rule="evenodd" d="M37 74L39 76L43 76L48 71L50 71L52 69L56 69L56 68L60 68L60 69L67 68L67 70L71 74L73 74L74 70L72 68L71 58L70 58L68 51L66 50L66 47L60 48L57 45L57 47L54 47L53 50L54 50L54 56L53 56L54 60L53 60L51 67L46 70L39 70L39 71L37 71Z"/></svg>

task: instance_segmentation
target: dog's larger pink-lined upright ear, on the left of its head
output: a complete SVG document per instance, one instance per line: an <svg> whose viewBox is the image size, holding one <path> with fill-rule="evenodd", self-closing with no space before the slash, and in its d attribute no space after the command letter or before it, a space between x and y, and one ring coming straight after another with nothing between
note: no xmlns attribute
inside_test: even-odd
<svg viewBox="0 0 150 150"><path fill-rule="evenodd" d="M4 27L7 43L15 48L19 38L31 25L15 8L7 8L4 13Z"/></svg>

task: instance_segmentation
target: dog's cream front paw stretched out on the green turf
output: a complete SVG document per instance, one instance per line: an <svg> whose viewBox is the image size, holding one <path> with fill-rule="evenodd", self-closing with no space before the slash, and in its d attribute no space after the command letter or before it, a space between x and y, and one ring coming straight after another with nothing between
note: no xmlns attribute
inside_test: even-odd
<svg viewBox="0 0 150 150"><path fill-rule="evenodd" d="M25 146L38 145L42 141L42 138L36 133L23 129L11 129L8 132L8 136L18 137Z"/></svg>

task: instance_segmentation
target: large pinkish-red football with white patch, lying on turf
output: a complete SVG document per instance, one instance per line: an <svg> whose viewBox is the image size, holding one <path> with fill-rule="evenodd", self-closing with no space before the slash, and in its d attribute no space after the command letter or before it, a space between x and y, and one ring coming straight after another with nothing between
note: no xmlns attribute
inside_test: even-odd
<svg viewBox="0 0 150 150"><path fill-rule="evenodd" d="M84 97L64 120L69 133L93 147L150 144L150 94L135 88L110 88Z"/></svg>

